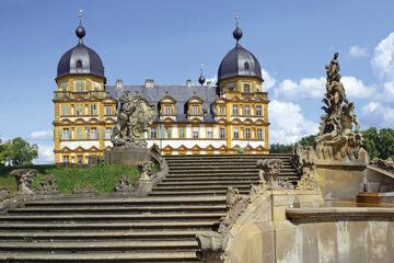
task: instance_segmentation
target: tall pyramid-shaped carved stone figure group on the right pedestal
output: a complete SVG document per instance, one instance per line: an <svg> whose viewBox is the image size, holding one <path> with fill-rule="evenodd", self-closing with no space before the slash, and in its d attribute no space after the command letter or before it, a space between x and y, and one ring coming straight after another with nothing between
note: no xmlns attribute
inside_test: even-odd
<svg viewBox="0 0 394 263"><path fill-rule="evenodd" d="M325 114L321 116L320 132L315 139L316 155L323 159L357 159L362 136L354 103L346 98L345 87L340 82L338 53L334 54L329 66L325 68L326 93L322 100L325 103L322 106Z"/></svg>

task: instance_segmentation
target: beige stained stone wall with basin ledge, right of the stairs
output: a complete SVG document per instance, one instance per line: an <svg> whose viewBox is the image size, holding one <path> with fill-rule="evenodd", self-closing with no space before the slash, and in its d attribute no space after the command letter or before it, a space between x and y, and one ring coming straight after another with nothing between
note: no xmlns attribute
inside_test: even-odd
<svg viewBox="0 0 394 263"><path fill-rule="evenodd" d="M224 262L392 262L393 208L317 204L312 192L264 193L232 228Z"/></svg>

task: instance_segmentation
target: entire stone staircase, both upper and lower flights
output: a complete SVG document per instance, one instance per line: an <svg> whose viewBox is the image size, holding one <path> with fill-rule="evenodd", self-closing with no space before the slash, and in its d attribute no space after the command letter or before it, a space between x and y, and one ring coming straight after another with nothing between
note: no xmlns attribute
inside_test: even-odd
<svg viewBox="0 0 394 263"><path fill-rule="evenodd" d="M257 183L262 158L165 157L169 176L143 198L28 201L0 215L0 262L198 262L196 235L218 228L228 186L247 193ZM289 156L274 158L297 180Z"/></svg>

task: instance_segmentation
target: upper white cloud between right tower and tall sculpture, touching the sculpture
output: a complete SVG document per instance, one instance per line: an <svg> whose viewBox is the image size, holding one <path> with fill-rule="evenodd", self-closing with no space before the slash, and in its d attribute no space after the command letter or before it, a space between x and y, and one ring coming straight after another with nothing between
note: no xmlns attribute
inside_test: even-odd
<svg viewBox="0 0 394 263"><path fill-rule="evenodd" d="M275 98L281 99L320 99L325 92L325 78L304 78L300 82L286 79L275 89Z"/></svg>

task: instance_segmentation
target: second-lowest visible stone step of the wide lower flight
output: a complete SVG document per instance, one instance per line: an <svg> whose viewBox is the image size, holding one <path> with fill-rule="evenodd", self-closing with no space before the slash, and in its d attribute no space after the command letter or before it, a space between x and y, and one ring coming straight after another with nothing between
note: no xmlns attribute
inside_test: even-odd
<svg viewBox="0 0 394 263"><path fill-rule="evenodd" d="M105 252L105 251L143 251L143 250L197 250L198 243L193 241L170 241L170 240L149 240L149 241L111 241L111 242L0 242L0 251L12 252Z"/></svg>

